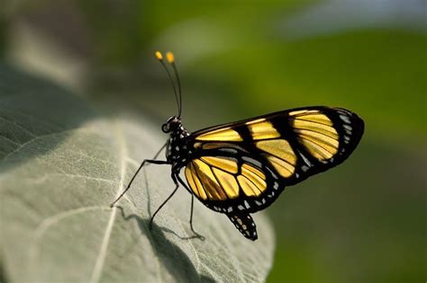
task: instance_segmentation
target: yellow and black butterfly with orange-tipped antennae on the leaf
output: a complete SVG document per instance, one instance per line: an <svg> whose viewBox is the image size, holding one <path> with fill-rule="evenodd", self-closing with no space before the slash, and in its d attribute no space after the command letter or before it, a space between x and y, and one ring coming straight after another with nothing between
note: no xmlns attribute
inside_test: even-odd
<svg viewBox="0 0 427 283"><path fill-rule="evenodd" d="M250 213L267 208L286 186L341 164L362 137L364 122L355 113L323 106L278 111L189 133L181 122L181 85L174 57L167 53L177 87L159 51L156 57L174 88L178 114L162 126L162 131L170 134L159 150L160 153L166 147L166 161L156 160L159 153L144 160L126 188L129 190L144 164L172 166L176 188L151 217L150 225L182 184L192 196L193 233L202 237L192 223L196 197L207 208L229 217L241 234L254 241L258 234ZM182 168L188 186L179 176Z"/></svg>

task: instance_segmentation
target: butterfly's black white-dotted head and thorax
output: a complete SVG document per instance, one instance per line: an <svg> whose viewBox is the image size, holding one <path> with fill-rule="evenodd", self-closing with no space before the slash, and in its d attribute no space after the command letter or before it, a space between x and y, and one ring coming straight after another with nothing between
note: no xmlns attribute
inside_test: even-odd
<svg viewBox="0 0 427 283"><path fill-rule="evenodd" d="M179 172L182 167L186 166L189 160L188 157L192 154L188 145L190 133L182 126L181 121L177 119L172 119L165 125L170 128L170 137L166 146L166 160L169 164L172 164L173 172ZM163 131L165 132L165 130Z"/></svg>

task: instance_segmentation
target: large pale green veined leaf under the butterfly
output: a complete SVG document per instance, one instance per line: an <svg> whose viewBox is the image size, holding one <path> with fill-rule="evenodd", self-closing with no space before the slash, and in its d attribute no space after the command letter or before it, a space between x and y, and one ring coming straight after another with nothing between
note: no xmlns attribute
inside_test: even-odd
<svg viewBox="0 0 427 283"><path fill-rule="evenodd" d="M99 116L60 87L0 67L0 279L9 282L261 282L274 236L256 215L259 240L173 190L168 166L146 167L117 208L140 162L165 137L144 119Z"/></svg>

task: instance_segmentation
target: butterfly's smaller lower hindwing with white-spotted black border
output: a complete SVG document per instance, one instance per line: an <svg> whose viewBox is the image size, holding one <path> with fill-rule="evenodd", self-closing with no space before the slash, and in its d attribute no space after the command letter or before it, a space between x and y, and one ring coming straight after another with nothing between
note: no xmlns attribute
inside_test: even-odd
<svg viewBox="0 0 427 283"><path fill-rule="evenodd" d="M261 155L239 146L222 144L200 154L186 165L186 180L195 196L215 211L255 212L284 188L283 179Z"/></svg>

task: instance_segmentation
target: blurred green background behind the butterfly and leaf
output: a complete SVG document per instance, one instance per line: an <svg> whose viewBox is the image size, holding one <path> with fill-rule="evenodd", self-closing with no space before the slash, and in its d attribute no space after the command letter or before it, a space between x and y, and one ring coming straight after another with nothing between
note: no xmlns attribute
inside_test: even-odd
<svg viewBox="0 0 427 283"><path fill-rule="evenodd" d="M355 111L366 133L350 159L268 208L268 282L423 282L426 5L398 3L6 1L0 56L105 115L160 125L176 105L152 54L174 51L190 130L309 105Z"/></svg>

